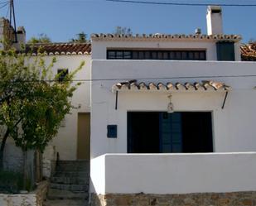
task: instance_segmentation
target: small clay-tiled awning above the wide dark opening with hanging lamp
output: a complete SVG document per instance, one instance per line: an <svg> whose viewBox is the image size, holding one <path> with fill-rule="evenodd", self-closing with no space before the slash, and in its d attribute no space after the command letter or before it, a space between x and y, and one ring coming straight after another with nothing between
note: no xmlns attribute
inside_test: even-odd
<svg viewBox="0 0 256 206"><path fill-rule="evenodd" d="M128 82L120 82L114 84L112 87L114 91L226 91L231 88L224 83L215 82L215 81L202 81L181 84L176 83L149 83L145 84L144 82L138 83L137 80L132 80Z"/></svg>

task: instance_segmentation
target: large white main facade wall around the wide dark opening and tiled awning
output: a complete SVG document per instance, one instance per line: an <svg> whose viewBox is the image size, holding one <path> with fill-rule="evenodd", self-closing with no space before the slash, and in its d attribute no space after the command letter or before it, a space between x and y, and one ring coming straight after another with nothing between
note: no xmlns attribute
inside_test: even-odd
<svg viewBox="0 0 256 206"><path fill-rule="evenodd" d="M111 87L124 79L141 79L146 83L195 82L215 80L233 88L225 108L225 93L173 93L176 111L211 111L215 152L256 151L256 64L253 62L163 61L163 60L93 60L91 88L91 158L106 153L127 152L127 112L167 111L167 93L115 94ZM254 75L251 77L234 77ZM182 78L183 77L183 78ZM144 80L143 80L144 78ZM146 79L147 78L147 79ZM148 79L149 78L149 79ZM119 80L113 80L119 79ZM121 80L120 80L121 79ZM118 138L107 138L107 125L118 125Z"/></svg>

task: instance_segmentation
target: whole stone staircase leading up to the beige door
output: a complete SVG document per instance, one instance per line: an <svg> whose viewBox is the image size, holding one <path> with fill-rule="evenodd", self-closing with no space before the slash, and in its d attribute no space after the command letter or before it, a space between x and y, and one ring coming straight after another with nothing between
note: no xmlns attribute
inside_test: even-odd
<svg viewBox="0 0 256 206"><path fill-rule="evenodd" d="M89 161L60 160L44 206L87 206Z"/></svg>

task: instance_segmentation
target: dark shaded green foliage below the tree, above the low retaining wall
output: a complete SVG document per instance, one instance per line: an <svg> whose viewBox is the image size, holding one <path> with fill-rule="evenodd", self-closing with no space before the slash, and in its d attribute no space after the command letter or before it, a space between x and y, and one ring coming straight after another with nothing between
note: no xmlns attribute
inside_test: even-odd
<svg viewBox="0 0 256 206"><path fill-rule="evenodd" d="M0 170L0 183L0 193L18 193L23 188L22 174Z"/></svg>

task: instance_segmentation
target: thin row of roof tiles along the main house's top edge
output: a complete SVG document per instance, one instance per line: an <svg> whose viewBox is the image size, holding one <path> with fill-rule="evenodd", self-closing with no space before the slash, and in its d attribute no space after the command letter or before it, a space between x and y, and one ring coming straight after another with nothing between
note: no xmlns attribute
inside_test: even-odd
<svg viewBox="0 0 256 206"><path fill-rule="evenodd" d="M170 41L170 40L204 40L204 41L240 41L239 35L166 35L166 34L142 34L142 35L114 35L93 34L92 41Z"/></svg>

